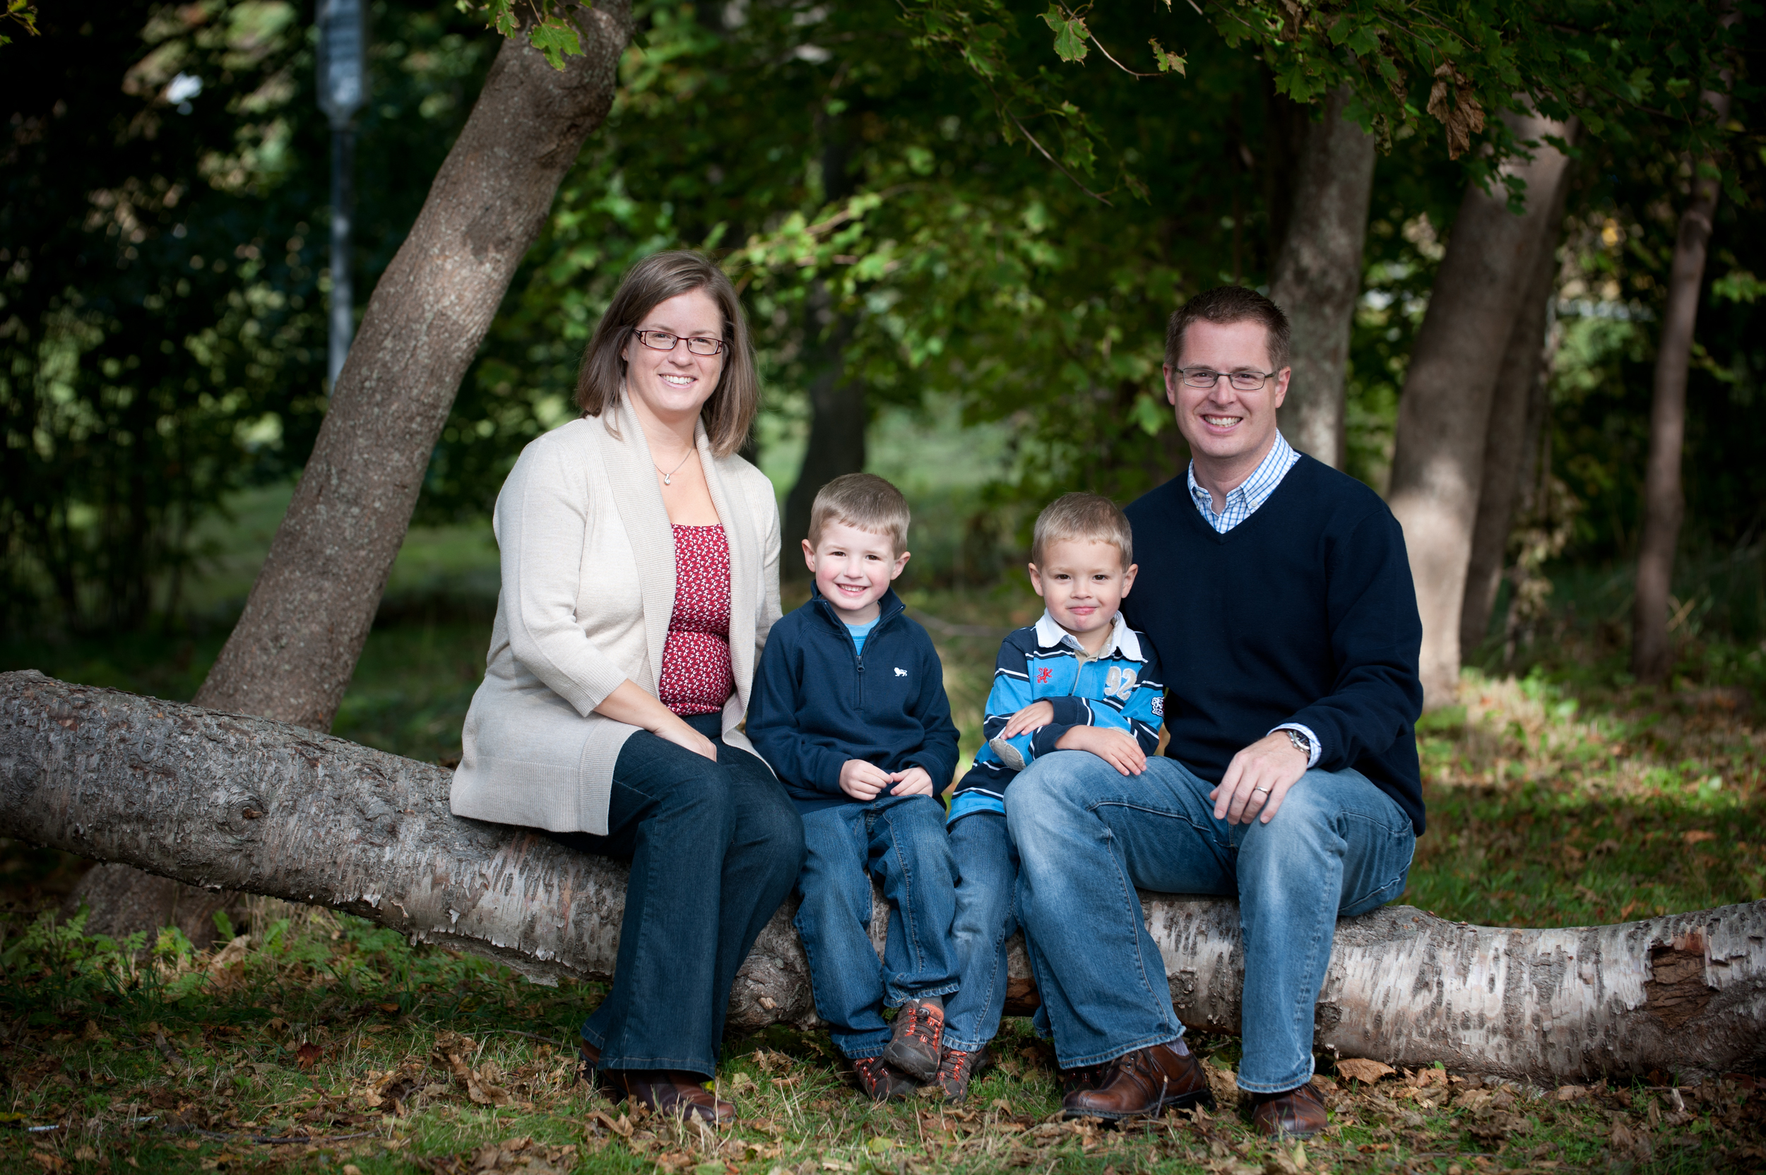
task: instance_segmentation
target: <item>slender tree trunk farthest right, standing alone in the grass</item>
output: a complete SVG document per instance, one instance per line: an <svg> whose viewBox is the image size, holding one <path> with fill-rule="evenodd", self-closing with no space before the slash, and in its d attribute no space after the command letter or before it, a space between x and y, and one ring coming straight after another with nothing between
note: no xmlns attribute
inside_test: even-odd
<svg viewBox="0 0 1766 1175"><path fill-rule="evenodd" d="M1729 118L1727 94L1706 92L1704 101L1711 106L1715 122ZM1722 191L1717 175L1699 175L1706 168L1715 173L1717 162L1702 159L1694 164L1692 199L1679 215L1662 342L1657 349L1655 397L1649 402L1649 464L1644 468L1644 526L1637 545L1637 603L1632 612L1632 672L1646 683L1667 677L1674 663L1667 598L1687 505L1679 485L1679 457L1687 443L1687 363L1699 319L1699 289L1704 286L1704 251L1711 242L1711 217Z"/></svg>

